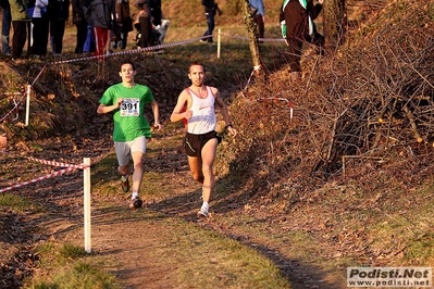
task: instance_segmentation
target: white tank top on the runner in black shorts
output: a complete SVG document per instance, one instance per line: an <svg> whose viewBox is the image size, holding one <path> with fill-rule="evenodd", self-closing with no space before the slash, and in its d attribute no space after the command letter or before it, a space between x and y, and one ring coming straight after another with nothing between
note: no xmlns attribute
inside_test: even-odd
<svg viewBox="0 0 434 289"><path fill-rule="evenodd" d="M214 130L216 123L214 111L215 98L211 88L207 86L207 98L204 99L197 97L189 88L188 92L191 96L191 108L189 110L193 111L193 115L188 120L188 133L202 135Z"/></svg>

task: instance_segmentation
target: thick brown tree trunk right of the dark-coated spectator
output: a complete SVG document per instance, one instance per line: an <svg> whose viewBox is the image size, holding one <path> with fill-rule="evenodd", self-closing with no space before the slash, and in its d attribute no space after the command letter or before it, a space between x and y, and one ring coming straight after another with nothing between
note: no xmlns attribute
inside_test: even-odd
<svg viewBox="0 0 434 289"><path fill-rule="evenodd" d="M335 49L343 42L347 30L346 0L325 0L323 11L325 42Z"/></svg>

